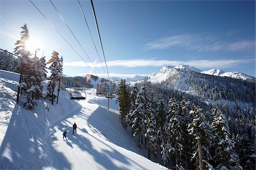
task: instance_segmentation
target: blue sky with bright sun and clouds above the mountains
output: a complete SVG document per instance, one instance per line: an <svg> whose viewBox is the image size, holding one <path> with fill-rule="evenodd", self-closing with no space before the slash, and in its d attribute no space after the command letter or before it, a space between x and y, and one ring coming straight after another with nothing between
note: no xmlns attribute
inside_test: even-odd
<svg viewBox="0 0 256 170"><path fill-rule="evenodd" d="M93 64L51 2L31 1L93 71L28 0L0 0L0 48L13 52L20 27L27 23L32 43L41 49L38 55L49 59L53 50L59 52L64 74L106 77L90 1L80 3L100 59L78 1L52 0ZM149 75L180 63L202 71L239 71L255 77L255 1L93 2L110 77Z"/></svg>

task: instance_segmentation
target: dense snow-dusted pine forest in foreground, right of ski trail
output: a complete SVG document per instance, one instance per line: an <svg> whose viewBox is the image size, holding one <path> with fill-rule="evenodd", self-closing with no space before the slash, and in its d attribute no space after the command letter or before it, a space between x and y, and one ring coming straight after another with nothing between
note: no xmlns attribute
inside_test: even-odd
<svg viewBox="0 0 256 170"><path fill-rule="evenodd" d="M118 86L123 128L169 168L255 169L255 108L206 105L163 84ZM191 101L192 100L192 101Z"/></svg>

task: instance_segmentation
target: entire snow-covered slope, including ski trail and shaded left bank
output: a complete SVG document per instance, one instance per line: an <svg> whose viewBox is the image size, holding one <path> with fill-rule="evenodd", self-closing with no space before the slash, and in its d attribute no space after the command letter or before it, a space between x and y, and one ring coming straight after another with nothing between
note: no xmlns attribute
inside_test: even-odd
<svg viewBox="0 0 256 170"><path fill-rule="evenodd" d="M166 169L144 157L137 140L122 128L118 105L110 100L108 111L105 97L96 96L95 89L80 101L60 91L59 104L40 99L27 111L15 101L18 76L0 73L1 169Z"/></svg>

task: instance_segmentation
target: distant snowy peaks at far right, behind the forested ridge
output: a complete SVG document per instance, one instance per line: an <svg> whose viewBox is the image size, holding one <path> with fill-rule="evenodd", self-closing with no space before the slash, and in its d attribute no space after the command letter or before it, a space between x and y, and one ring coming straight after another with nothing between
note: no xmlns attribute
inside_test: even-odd
<svg viewBox="0 0 256 170"><path fill-rule="evenodd" d="M242 79L242 80L255 80L252 76L239 73L237 71L225 72L218 69L210 69L208 71L201 71L203 74L216 75L216 76L228 76L230 78Z"/></svg>

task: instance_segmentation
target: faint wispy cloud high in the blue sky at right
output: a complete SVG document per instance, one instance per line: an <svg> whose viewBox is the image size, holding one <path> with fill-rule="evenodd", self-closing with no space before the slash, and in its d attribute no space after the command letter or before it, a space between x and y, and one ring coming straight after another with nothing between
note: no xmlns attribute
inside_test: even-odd
<svg viewBox="0 0 256 170"><path fill-rule="evenodd" d="M146 44L146 49L166 49L171 47L185 48L187 50L196 50L197 52L216 50L238 51L254 48L255 41L226 41L224 39L221 39L221 36L196 33L163 37L161 39L151 41Z"/></svg>

